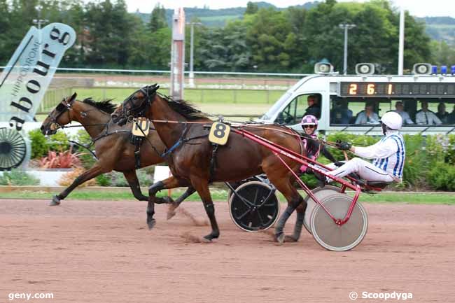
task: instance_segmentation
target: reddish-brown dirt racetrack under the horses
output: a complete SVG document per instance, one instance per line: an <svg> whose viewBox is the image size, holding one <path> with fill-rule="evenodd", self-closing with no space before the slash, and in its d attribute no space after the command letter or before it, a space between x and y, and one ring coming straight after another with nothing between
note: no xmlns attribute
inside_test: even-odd
<svg viewBox="0 0 455 303"><path fill-rule="evenodd" d="M335 253L306 231L283 246L268 233L242 232L226 203L216 204L221 238L213 244L191 241L209 226L183 213L167 221L166 206L149 231L144 202L46 203L0 199L0 302L27 302L9 293L53 293L28 301L46 303L352 302L351 291L455 300L454 206L366 204L367 237ZM206 220L201 203L183 207Z"/></svg>

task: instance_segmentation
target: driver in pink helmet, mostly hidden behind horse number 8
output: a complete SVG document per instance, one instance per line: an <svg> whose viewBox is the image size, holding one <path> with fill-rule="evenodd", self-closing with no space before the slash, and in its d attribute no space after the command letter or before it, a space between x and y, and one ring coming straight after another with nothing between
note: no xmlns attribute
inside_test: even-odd
<svg viewBox="0 0 455 303"><path fill-rule="evenodd" d="M331 162L337 162L335 157L325 148L324 145L320 145L318 141L318 136L316 135L316 129L318 129L318 119L314 115L305 115L302 118L302 129L304 133L302 134L302 141L304 149L307 150L307 157L311 160L316 160L319 156L319 153L322 153ZM309 172L307 170L307 165L302 165L300 171L302 173Z"/></svg>

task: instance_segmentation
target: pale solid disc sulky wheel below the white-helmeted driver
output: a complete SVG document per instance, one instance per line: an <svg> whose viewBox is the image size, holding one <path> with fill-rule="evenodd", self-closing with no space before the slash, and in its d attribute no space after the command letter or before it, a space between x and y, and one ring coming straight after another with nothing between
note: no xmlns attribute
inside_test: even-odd
<svg viewBox="0 0 455 303"><path fill-rule="evenodd" d="M342 219L346 216L352 199L346 194L335 194L323 199L321 204L332 216ZM359 202L354 206L351 218L343 225L337 225L320 204L316 204L311 214L313 237L329 251L349 251L356 247L365 237L367 228L367 212Z"/></svg>

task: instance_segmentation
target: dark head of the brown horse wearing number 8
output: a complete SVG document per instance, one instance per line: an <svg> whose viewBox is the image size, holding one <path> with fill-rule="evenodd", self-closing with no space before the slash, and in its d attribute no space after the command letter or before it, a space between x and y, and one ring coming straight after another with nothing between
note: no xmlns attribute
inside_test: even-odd
<svg viewBox="0 0 455 303"><path fill-rule="evenodd" d="M131 121L133 118L144 116L144 113L151 105L158 88L160 88L160 86L156 84L144 86L131 94L130 97L127 97L127 99L118 106L116 111L112 113L113 122L121 126L125 125L127 121Z"/></svg>

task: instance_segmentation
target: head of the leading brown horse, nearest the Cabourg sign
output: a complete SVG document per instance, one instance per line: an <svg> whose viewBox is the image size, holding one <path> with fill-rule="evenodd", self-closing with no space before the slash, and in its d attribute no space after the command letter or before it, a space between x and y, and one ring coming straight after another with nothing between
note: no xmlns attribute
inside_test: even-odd
<svg viewBox="0 0 455 303"><path fill-rule="evenodd" d="M41 133L55 134L62 125L71 122L71 106L76 100L76 92L71 97L63 98L62 101L49 113L41 125ZM66 115L64 115L66 113Z"/></svg>

